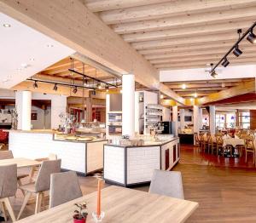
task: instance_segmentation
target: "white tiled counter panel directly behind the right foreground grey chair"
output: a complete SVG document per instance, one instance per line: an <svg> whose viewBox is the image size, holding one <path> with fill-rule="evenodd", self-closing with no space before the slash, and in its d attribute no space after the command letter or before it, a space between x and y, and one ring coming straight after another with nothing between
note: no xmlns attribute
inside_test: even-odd
<svg viewBox="0 0 256 223"><path fill-rule="evenodd" d="M160 146L127 148L127 184L150 181L154 169L160 169Z"/></svg>

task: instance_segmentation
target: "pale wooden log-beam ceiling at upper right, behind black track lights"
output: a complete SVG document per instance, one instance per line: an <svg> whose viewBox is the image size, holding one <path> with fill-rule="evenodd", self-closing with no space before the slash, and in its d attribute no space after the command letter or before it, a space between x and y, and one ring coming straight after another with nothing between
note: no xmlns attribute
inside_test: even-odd
<svg viewBox="0 0 256 223"><path fill-rule="evenodd" d="M217 63L256 19L256 0L81 0L156 68ZM256 46L241 42L232 65L255 64Z"/></svg>

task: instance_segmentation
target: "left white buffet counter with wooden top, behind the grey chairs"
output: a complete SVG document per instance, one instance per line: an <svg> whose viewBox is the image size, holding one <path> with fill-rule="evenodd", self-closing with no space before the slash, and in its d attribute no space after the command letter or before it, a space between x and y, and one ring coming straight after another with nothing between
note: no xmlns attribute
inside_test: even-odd
<svg viewBox="0 0 256 223"><path fill-rule="evenodd" d="M108 140L76 137L51 130L9 130L9 150L14 157L42 158L54 153L61 159L61 169L87 175L103 168L103 145ZM81 139L82 138L82 139Z"/></svg>

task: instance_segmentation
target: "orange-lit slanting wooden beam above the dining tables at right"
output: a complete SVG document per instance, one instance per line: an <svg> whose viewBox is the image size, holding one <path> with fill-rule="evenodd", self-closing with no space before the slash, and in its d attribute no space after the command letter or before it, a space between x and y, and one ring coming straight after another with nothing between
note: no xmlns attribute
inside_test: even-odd
<svg viewBox="0 0 256 223"><path fill-rule="evenodd" d="M203 105L210 102L228 99L237 95L255 93L255 81L241 83L239 86L219 91L218 93L209 94L203 97L198 102Z"/></svg>

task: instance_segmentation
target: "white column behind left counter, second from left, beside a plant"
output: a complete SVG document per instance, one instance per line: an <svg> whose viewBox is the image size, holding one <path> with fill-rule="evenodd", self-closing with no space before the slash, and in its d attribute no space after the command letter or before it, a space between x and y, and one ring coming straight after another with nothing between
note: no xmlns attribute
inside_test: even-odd
<svg viewBox="0 0 256 223"><path fill-rule="evenodd" d="M51 99L51 129L58 129L62 124L60 114L67 111L67 96L55 95Z"/></svg>

